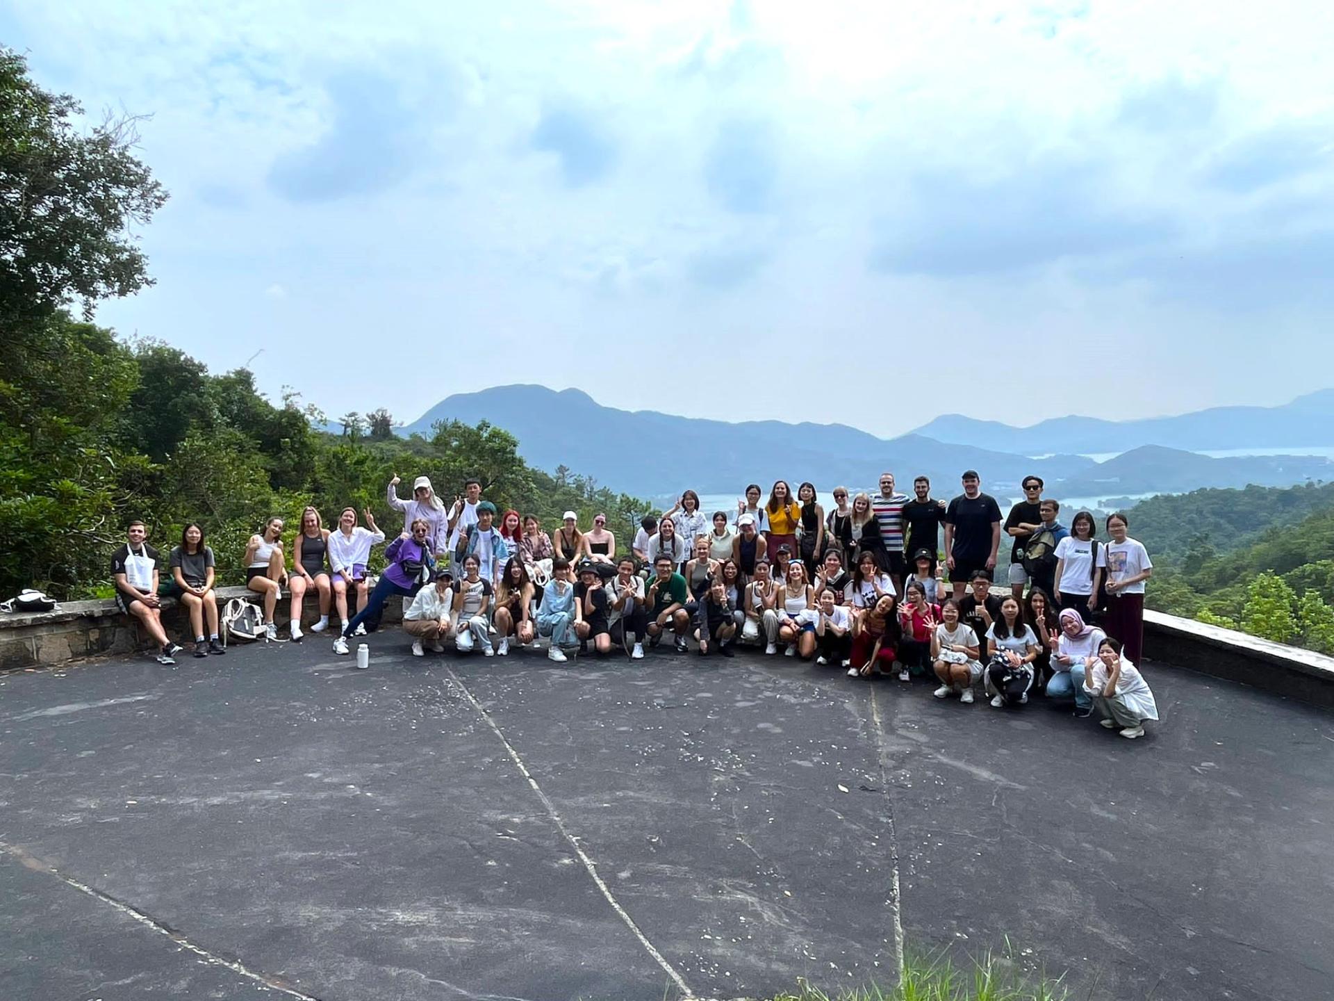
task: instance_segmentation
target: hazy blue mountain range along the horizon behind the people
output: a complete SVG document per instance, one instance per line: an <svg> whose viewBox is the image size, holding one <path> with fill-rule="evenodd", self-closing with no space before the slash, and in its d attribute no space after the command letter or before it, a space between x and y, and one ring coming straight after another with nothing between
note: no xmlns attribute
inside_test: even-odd
<svg viewBox="0 0 1334 1001"><path fill-rule="evenodd" d="M1334 390L1303 396L1289 407L1297 408L1291 412L1303 412L1307 424L1323 428L1323 435L1317 435L1314 430L1306 435L1303 440L1307 444L1317 443L1317 438L1323 438L1319 442L1322 444L1334 444L1329 419L1334 416ZM1322 408L1327 410L1329 416L1319 416ZM1278 410L1285 408L1225 407L1219 411L1233 414L1231 418L1215 415L1210 419L1237 420L1238 412L1270 414ZM1218 414L1201 411L1209 412ZM600 484L646 496L674 492L683 486L691 486L699 492L731 492L748 482L756 482L767 488L775 476L810 479L827 490L834 483L874 483L883 470L894 470L903 490L911 488L912 476L926 474L936 484L935 492L939 495L955 492L959 472L966 468L978 470L983 488L1002 495L1015 492L1015 484L1029 474L1042 476L1047 482L1047 492L1058 496L1179 492L1247 483L1290 486L1307 479L1334 479L1334 463L1318 456L1211 459L1181 447L1143 442L1137 436L1142 426L1158 426L1162 422L1182 420L1186 422L1183 428L1194 427L1195 423L1189 419L1201 414L1125 423L1062 418L1033 428L1014 428L955 415L938 418L914 432L883 439L846 424L788 424L778 420L727 423L650 410L615 410L599 404L580 390L496 386L448 396L411 424L399 428L399 432L430 436L431 427L439 420L458 419L470 424L490 420L515 435L519 439L519 454L538 468L550 471L566 466ZM1075 424L1067 426L1063 422ZM1087 422L1091 422L1090 427L1098 426L1099 434L1105 430L1101 428L1102 424L1123 428L1122 436L1114 444L1110 444L1110 436L1098 438L1094 444L1089 444L1077 432L1077 427ZM1043 426L1049 427L1051 440L1059 439L1067 444L1014 450L1013 444L1007 448L994 443L1009 443L1007 434L1034 432ZM1273 427L1279 424L1274 423ZM1137 430L1129 432L1126 428ZM983 430L988 435L986 440L980 440L986 436ZM1239 434L1223 434L1223 444L1209 447L1242 447ZM962 438L971 440L959 440ZM1258 443L1258 439L1254 440ZM1265 444L1274 443L1283 444L1285 439L1265 439ZM1109 447L1101 447L1103 444ZM1098 463L1077 454L1077 450L1125 454ZM1043 458L1033 459L1029 454L1041 454Z"/></svg>

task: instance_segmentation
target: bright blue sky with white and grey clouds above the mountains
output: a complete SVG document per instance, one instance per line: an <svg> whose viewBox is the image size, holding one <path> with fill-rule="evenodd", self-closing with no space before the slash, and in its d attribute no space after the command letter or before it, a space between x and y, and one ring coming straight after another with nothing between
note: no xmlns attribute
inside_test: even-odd
<svg viewBox="0 0 1334 1001"><path fill-rule="evenodd" d="M0 0L41 85L149 116L125 336L331 418L534 382L886 436L1334 384L1330 37L1283 0Z"/></svg>

